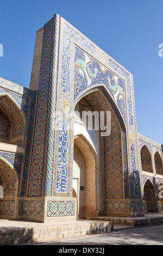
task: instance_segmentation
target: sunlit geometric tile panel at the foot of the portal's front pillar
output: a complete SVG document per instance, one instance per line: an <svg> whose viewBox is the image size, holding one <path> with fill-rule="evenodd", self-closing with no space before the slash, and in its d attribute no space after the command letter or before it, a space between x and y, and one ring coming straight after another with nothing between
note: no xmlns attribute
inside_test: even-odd
<svg viewBox="0 0 163 256"><path fill-rule="evenodd" d="M47 217L74 216L74 201L48 201Z"/></svg>

